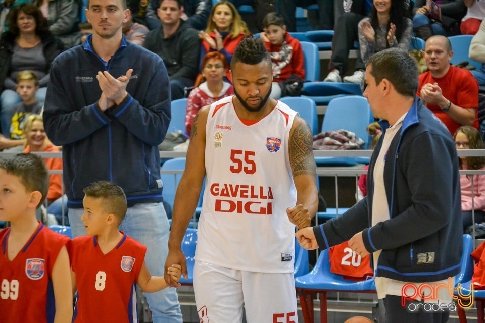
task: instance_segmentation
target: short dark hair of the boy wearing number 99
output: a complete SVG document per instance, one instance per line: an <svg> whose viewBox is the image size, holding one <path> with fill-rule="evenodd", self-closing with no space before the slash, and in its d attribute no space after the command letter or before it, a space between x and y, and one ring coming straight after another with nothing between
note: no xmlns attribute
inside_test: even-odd
<svg viewBox="0 0 485 323"><path fill-rule="evenodd" d="M42 194L37 208L45 200L49 191L49 172L41 157L32 153L19 153L9 159L0 159L0 169L19 178L27 192Z"/></svg>

